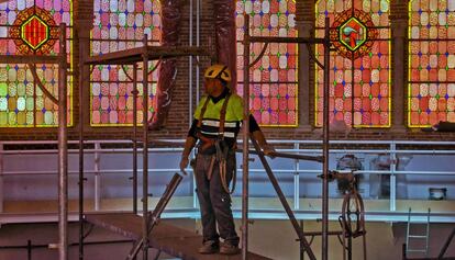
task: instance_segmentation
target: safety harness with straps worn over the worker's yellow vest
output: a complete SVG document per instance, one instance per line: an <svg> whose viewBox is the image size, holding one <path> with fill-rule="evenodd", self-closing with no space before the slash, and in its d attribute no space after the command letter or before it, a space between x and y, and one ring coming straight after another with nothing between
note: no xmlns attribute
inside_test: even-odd
<svg viewBox="0 0 455 260"><path fill-rule="evenodd" d="M223 102L223 106L221 108L220 111L220 127L219 127L219 133L217 138L209 138L202 135L202 133L200 132L201 126L202 126L202 120L203 120L203 115L206 113L207 110L207 105L209 104L210 101L210 97L207 97L206 102L203 103L203 106L201 109L201 113L199 115L198 118L198 124L197 124L197 129L198 129L198 138L202 142L202 144L200 145L200 149L201 150L206 150L212 146L215 147L215 155L212 156L212 159L210 161L210 166L209 166L209 171L207 173L207 178L210 180L213 173L213 167L214 167L214 162L218 161L218 166L220 168L220 180L221 180L221 185L223 186L224 191L228 192L229 194L232 194L235 190L235 180L236 180L236 165L234 163L234 170L233 170L233 174L232 174L232 189L229 189L229 184L228 184L228 180L226 180L226 159L228 159L228 154L229 154L229 147L228 145L224 143L224 123L225 123L225 117L226 117L226 109L228 109L228 103L229 103L229 99L231 98L231 93L228 93L228 95L224 99ZM234 160L235 161L235 160Z"/></svg>

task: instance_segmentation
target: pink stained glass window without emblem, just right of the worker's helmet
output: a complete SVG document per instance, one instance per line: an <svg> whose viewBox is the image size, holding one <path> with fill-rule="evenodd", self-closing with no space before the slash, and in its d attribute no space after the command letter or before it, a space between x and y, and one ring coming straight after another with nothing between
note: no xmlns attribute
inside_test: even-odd
<svg viewBox="0 0 455 260"><path fill-rule="evenodd" d="M249 14L254 36L297 36L296 1L237 0L237 41L243 41L244 14ZM252 45L251 60L263 44ZM243 92L244 46L237 43L237 92ZM297 44L271 43L264 57L251 70L249 109L264 126L297 126Z"/></svg>

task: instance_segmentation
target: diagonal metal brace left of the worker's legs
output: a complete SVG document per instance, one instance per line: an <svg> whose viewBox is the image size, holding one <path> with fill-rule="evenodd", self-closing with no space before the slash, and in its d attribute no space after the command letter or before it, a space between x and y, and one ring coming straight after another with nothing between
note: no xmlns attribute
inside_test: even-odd
<svg viewBox="0 0 455 260"><path fill-rule="evenodd" d="M162 199L159 199L158 204L156 204L155 210L152 214L149 214L149 217L147 219L148 223L148 234L152 233L153 228L158 224L159 216L166 208L167 203L173 197L177 186L180 184L181 179L184 177L179 173L175 173L173 179L170 180L169 184L166 186L166 191L163 193ZM126 260L133 260L136 258L138 251L143 247L144 238L141 238L137 240L134 245L134 247L131 249L130 253L126 257Z"/></svg>

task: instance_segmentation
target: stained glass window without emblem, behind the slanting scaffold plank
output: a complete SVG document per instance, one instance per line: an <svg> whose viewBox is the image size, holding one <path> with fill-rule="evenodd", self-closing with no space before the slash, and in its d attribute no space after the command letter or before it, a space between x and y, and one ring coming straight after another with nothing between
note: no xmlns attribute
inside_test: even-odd
<svg viewBox="0 0 455 260"><path fill-rule="evenodd" d="M160 38L160 3L158 0L95 0L95 22L91 54L124 50L142 46L144 34L158 44ZM154 68L151 63L149 70ZM142 80L142 66L137 80ZM151 71L148 82L149 113L156 108L157 71ZM96 66L91 78L92 126L129 126L133 124L132 66ZM142 83L137 84L137 122L142 123Z"/></svg>

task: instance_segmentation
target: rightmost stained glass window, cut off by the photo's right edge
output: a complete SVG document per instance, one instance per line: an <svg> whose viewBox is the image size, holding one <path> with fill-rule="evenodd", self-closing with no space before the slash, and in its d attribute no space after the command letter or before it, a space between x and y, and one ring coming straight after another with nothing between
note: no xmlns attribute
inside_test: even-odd
<svg viewBox="0 0 455 260"><path fill-rule="evenodd" d="M455 0L409 4L408 124L455 122Z"/></svg>

